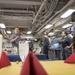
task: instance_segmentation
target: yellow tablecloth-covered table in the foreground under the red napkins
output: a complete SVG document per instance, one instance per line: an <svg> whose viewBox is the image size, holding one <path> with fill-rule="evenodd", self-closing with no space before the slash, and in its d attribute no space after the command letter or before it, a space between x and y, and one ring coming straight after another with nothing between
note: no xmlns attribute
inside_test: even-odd
<svg viewBox="0 0 75 75"><path fill-rule="evenodd" d="M75 75L75 64L64 61L40 61L48 75ZM11 66L0 69L0 75L20 75L21 65L11 62Z"/></svg>

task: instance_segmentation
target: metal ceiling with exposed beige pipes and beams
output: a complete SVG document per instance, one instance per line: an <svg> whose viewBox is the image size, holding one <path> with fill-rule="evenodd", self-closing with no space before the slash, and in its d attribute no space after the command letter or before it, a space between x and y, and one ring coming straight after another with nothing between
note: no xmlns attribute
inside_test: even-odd
<svg viewBox="0 0 75 75"><path fill-rule="evenodd" d="M0 22L6 25L6 30L20 27L21 32L32 30L34 36L44 31L63 25L70 20L60 19L60 15L68 8L73 8L75 0L0 0ZM48 23L54 28L45 30Z"/></svg>

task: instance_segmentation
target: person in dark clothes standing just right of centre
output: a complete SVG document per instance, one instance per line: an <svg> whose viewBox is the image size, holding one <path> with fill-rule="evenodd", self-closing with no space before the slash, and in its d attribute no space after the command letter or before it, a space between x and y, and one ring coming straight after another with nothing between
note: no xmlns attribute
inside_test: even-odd
<svg viewBox="0 0 75 75"><path fill-rule="evenodd" d="M47 34L44 34L43 53L47 55L47 59L49 59L49 57L48 57L48 50L49 50L49 39L48 39Z"/></svg>

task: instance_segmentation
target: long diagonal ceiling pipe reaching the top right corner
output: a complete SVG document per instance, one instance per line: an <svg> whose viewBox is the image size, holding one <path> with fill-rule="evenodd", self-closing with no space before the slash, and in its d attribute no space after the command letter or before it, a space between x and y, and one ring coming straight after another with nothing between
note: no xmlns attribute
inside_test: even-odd
<svg viewBox="0 0 75 75"><path fill-rule="evenodd" d="M60 11L57 11L57 12L54 14L54 16L52 16L48 21L46 21L45 24L42 25L42 26L37 30L37 32L38 32L38 31L43 32L43 29L42 29L42 28L43 28L47 23L49 23L50 20L52 20L56 15L60 14L62 11L64 11L66 8L68 8L70 5L72 5L74 2L75 2L75 0L70 0Z"/></svg>

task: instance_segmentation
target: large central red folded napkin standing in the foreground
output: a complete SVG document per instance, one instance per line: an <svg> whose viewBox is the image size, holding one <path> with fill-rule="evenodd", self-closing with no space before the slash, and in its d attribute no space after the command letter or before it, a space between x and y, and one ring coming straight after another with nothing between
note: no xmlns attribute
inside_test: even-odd
<svg viewBox="0 0 75 75"><path fill-rule="evenodd" d="M32 52L29 52L22 66L20 75L48 75L48 74L39 63L37 57Z"/></svg>

